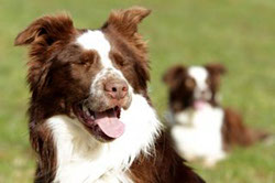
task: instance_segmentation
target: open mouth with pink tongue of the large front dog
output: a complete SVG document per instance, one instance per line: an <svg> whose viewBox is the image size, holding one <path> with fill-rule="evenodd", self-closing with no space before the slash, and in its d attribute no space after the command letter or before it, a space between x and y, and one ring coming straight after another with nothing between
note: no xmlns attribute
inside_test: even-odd
<svg viewBox="0 0 275 183"><path fill-rule="evenodd" d="M120 121L120 112L118 106L105 111L94 111L85 103L75 107L78 119L100 141L110 141L123 134L124 123Z"/></svg>

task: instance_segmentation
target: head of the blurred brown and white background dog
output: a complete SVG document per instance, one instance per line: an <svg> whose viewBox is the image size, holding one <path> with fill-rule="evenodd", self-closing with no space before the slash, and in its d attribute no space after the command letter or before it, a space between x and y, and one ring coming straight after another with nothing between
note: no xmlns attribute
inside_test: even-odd
<svg viewBox="0 0 275 183"><path fill-rule="evenodd" d="M220 76L226 73L221 64L205 66L176 65L169 68L164 83L169 89L169 104L173 111L194 107L199 109L206 104L218 105Z"/></svg>

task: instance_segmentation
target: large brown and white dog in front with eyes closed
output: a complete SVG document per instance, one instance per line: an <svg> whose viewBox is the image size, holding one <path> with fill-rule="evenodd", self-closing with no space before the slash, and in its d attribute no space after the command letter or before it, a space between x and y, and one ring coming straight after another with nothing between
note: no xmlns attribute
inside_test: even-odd
<svg viewBox="0 0 275 183"><path fill-rule="evenodd" d="M201 183L162 131L147 94L148 58L138 24L150 10L113 11L102 28L67 15L35 20L30 46L30 140L35 183Z"/></svg>

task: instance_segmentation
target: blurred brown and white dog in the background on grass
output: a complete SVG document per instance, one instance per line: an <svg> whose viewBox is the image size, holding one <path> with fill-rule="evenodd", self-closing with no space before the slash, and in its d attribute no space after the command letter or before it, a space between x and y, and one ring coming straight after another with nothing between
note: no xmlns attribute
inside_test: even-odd
<svg viewBox="0 0 275 183"><path fill-rule="evenodd" d="M252 131L242 117L219 101L221 64L206 66L176 65L164 75L169 89L170 134L178 153L191 161L202 159L215 165L233 144L249 146L266 137Z"/></svg>

